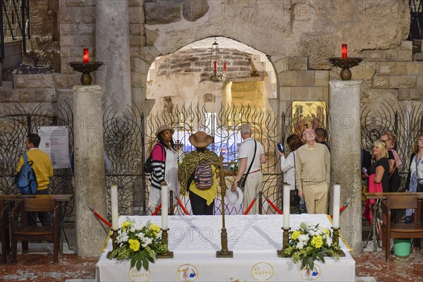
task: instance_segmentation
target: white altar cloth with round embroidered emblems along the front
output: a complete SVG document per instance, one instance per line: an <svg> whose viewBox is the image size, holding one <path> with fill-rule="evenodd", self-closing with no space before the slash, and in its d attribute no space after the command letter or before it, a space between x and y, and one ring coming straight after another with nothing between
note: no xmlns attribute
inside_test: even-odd
<svg viewBox="0 0 423 282"><path fill-rule="evenodd" d="M127 216L120 216L119 225ZM128 216L135 221L152 221L161 225L160 216ZM280 258L283 216L227 215L228 250L233 258L216 258L221 250L221 216L169 216L168 247L173 259L156 259L143 268L130 269L130 261L107 259L111 240L97 262L97 281L355 281L355 261L341 242L345 257L338 261L325 257L314 269L300 270L291 258ZM300 222L319 223L331 228L326 214L290 216L291 228Z"/></svg>

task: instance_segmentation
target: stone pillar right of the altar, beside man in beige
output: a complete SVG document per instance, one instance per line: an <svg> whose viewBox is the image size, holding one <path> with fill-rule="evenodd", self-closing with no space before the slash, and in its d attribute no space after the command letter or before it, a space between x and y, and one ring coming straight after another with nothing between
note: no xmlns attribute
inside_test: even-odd
<svg viewBox="0 0 423 282"><path fill-rule="evenodd" d="M341 206L350 203L340 218L341 235L354 253L362 250L360 85L362 80L331 80L331 175L341 184ZM332 211L333 188L330 193Z"/></svg>

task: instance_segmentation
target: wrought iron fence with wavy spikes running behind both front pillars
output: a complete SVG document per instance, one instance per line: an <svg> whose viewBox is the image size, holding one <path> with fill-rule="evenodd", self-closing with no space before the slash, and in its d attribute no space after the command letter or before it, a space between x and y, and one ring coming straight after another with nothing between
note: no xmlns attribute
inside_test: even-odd
<svg viewBox="0 0 423 282"><path fill-rule="evenodd" d="M388 102L381 104L379 109L362 106L362 147L370 149L372 142L387 130L396 133L398 135L396 149L404 163L400 171L403 178L410 165L409 156L413 138L423 133L422 110L423 103L400 111L393 109ZM262 205L264 214L275 213L267 199L276 204L276 207L281 208L283 176L275 154L276 143L286 140L288 135L295 133L298 122L291 108L281 116L277 116L272 111L264 112L250 106L237 108L222 105L219 112L209 112L204 107L190 105L176 106L171 111L144 116L136 106L128 107L128 111L120 115L114 114L110 106L105 106L104 147L111 160L111 168L106 171L108 195L110 183L117 183L121 188L120 214L152 214L154 207L148 207L149 181L148 175L143 171L143 164L156 142L155 133L159 126L167 124L175 128L173 138L179 148L179 159L183 159L185 154L195 149L188 142L188 137L197 130L203 130L214 136L214 142L209 149L216 154L226 151L225 161L233 161L237 158L237 143L241 142L240 125L250 123L253 137L262 142L267 157L266 164L262 166L264 174L262 197L259 197L258 201ZM327 115L325 121L319 121L317 124L326 127L324 125L328 124ZM73 116L68 104L57 109L49 109L39 104L30 112L27 112L23 106L16 106L11 109L10 114L0 116L0 192L4 194L18 192L13 185L13 178L18 159L25 151L25 137L27 133L36 131L37 126L46 125L68 125L70 128L69 148L73 152ZM235 177L234 168L227 166L226 170L228 171L226 185L229 186ZM73 183L71 169L59 169L54 171L49 189L56 194L73 194ZM220 195L216 195L215 214L221 213L220 199ZM182 197L181 200L183 206L190 211L188 197ZM66 221L75 220L73 208L73 202L70 202L66 207ZM243 213L242 207L226 205L225 208L227 214ZM183 210L178 207L176 213L183 214Z"/></svg>

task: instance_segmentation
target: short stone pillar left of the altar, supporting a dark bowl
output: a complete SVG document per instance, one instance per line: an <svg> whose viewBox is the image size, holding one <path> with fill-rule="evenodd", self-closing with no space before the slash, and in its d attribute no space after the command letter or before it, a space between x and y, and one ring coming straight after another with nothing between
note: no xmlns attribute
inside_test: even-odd
<svg viewBox="0 0 423 282"><path fill-rule="evenodd" d="M78 257L99 257L108 228L88 204L106 217L102 87L75 85L73 95L76 251Z"/></svg>

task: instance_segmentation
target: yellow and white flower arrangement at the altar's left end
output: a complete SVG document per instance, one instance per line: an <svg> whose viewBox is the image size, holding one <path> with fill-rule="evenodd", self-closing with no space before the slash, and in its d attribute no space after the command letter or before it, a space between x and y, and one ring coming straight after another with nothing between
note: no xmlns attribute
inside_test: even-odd
<svg viewBox="0 0 423 282"><path fill-rule="evenodd" d="M160 227L150 221L144 224L127 218L118 229L116 240L118 248L109 259L130 259L130 267L137 266L137 270L141 266L148 270L156 254L167 251L167 246L161 245Z"/></svg>

